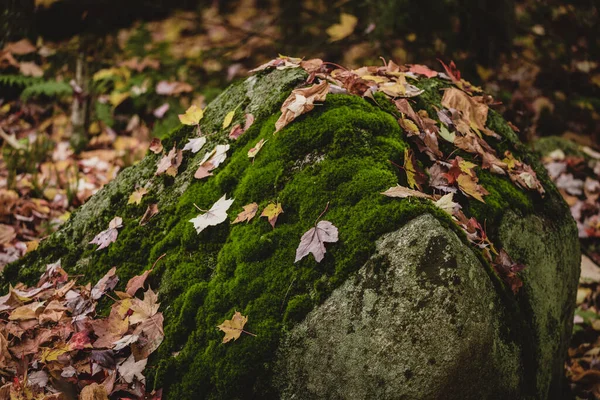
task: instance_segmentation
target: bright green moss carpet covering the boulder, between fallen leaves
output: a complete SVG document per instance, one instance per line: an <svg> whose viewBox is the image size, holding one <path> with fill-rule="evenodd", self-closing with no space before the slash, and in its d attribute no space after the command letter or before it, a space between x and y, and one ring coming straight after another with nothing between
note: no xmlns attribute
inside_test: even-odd
<svg viewBox="0 0 600 400"><path fill-rule="evenodd" d="M270 361L283 330L360 268L374 254L376 239L423 213L433 214L464 239L448 214L431 202L381 195L405 182L405 174L390 161L401 165L409 146L391 103L382 96L374 104L356 96L328 95L323 105L273 135L281 103L304 77L297 70L277 71L223 92L201 123L209 143L196 155L185 154L176 178L154 177L159 156L149 154L94 196L39 251L8 266L1 283L35 282L46 263L63 257L67 270L90 281L117 266L122 289L129 278L166 254L150 275L163 303L166 333L149 363L150 387L164 387L170 399L275 397L268 391ZM415 109L435 116L439 88L447 84L434 79L418 84L427 91L417 98ZM256 122L231 143L229 158L214 176L193 179L205 151L226 142L222 120L238 106L252 112ZM236 114L240 121L234 123L241 122L242 114ZM508 128L500 125L497 131ZM175 143L181 147L194 134L191 127L174 131L164 140L165 148ZM504 137L512 143L508 133ZM252 162L247 151L260 139L268 141ZM507 208L530 213L542 203L506 177L486 171L478 175L490 196L485 205L465 204L481 221L496 222ZM150 193L144 203L126 205L135 184L146 183ZM235 199L230 220L250 202L262 210L278 201L284 213L275 229L256 216L250 223L224 223L196 233L189 222L199 213L195 205L208 209L223 194ZM160 213L139 226L150 201L158 202ZM321 263L310 255L294 263L300 237L327 204L323 219L338 227L339 242L327 246ZM115 215L124 219L117 241L96 251L87 242ZM225 345L216 326L234 311L248 316L246 329L257 336L243 335Z"/></svg>

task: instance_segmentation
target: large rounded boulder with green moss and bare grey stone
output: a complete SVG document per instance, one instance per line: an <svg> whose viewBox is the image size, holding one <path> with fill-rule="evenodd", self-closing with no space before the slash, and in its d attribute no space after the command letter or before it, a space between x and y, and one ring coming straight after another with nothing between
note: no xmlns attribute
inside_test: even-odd
<svg viewBox="0 0 600 400"><path fill-rule="evenodd" d="M534 166L547 194L477 169L490 192L486 203L460 198L497 246L528 265L524 286L513 295L448 214L428 200L381 195L406 184L390 161L401 165L412 146L383 96L374 103L328 95L273 135L279 107L305 79L299 69L276 70L231 86L201 121L210 137L206 151L228 142L221 125L229 111L237 109L234 123L245 113L256 122L230 143L214 176L193 178L204 150L184 153L175 178L154 176L160 156L149 153L38 250L7 266L3 288L35 283L46 264L61 259L68 272L90 281L117 266L122 290L166 254L150 275L166 337L145 375L148 387L163 387L167 399L543 399L558 393L579 248L568 208L536 159L491 112L488 125L502 139L490 144ZM425 90L417 109L435 115L448 83L413 83ZM163 141L165 149L181 148L195 134L182 127ZM261 138L268 142L252 162L247 152ZM141 205L127 205L136 184L148 184L149 194ZM198 214L195 205L209 208L223 194L235 199L230 221L251 202L262 209L279 201L284 213L275 229L256 217L196 233L189 222ZM160 213L139 226L151 203ZM328 244L321 263L312 256L294 263L300 237L327 203L325 218L339 229L339 242ZM96 251L89 241L114 216L124 221L117 241ZM245 329L257 336L223 344L216 326L234 311L248 316Z"/></svg>

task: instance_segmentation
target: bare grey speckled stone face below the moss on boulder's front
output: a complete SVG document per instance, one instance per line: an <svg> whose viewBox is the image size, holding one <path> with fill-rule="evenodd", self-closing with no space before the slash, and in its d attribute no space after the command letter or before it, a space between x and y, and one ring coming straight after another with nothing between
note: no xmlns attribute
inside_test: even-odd
<svg viewBox="0 0 600 400"><path fill-rule="evenodd" d="M282 398L529 397L504 300L454 232L426 214L377 249L287 334L275 373Z"/></svg>

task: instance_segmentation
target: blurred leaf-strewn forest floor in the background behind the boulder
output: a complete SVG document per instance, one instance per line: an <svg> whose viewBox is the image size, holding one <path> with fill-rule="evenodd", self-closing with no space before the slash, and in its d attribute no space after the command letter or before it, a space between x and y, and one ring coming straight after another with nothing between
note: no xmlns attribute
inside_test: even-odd
<svg viewBox="0 0 600 400"><path fill-rule="evenodd" d="M276 18L257 10L252 1L246 3L225 15L214 8L199 14L176 12L101 37L37 43L24 39L0 50L0 270L35 249L71 211L143 158L151 140L177 127L178 115L190 105L203 108L229 82L277 56L281 33ZM477 76L467 79L498 100L495 108L524 141L550 132L588 146L597 156L593 150L598 145L594 138L600 137L600 96L590 93L600 89L600 68L590 61L592 44L555 40L560 26L578 11L557 6L544 19L530 3L517 9L520 34L514 53L494 68L477 65ZM290 56L319 57L348 68L381 65L382 47L369 37L369 27L357 29L360 21L350 14L335 19L309 30L322 43L318 50L299 46ZM410 50L417 39L416 34L396 38L392 54L384 55L441 70L433 57L420 60ZM451 57L459 68L470 63L464 52L452 52ZM72 144L81 143L74 140L79 137L87 143L75 151ZM554 178L562 179L559 186L564 186L566 200L574 206L579 196L598 208L600 167L592 167L586 180L581 160L554 156L546 163L565 165ZM588 236L595 247L585 248L600 248L600 222L598 231ZM580 398L600 399L599 261L600 254L591 251L582 264L566 366Z"/></svg>

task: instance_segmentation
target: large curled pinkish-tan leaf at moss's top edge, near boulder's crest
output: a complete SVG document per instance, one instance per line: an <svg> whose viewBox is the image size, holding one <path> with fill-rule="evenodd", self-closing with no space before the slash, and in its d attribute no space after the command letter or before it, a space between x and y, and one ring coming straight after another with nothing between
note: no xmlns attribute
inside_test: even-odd
<svg viewBox="0 0 600 400"><path fill-rule="evenodd" d="M300 115L315 108L315 101L325 101L327 92L329 92L329 83L325 80L316 85L292 90L292 93L281 106L281 116L275 122L275 133Z"/></svg>

